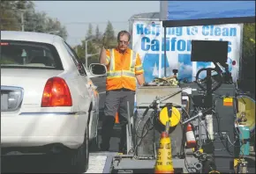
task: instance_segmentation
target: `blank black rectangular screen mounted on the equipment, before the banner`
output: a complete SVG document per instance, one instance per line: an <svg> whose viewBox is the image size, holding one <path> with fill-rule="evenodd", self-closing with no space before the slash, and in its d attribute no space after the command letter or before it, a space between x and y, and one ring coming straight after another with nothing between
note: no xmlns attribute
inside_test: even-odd
<svg viewBox="0 0 256 174"><path fill-rule="evenodd" d="M228 59L228 41L192 40L192 62L220 62Z"/></svg>

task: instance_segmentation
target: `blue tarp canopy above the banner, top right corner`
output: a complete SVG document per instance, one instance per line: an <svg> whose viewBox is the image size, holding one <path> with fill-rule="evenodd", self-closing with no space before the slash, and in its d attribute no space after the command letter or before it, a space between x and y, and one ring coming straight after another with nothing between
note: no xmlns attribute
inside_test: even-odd
<svg viewBox="0 0 256 174"><path fill-rule="evenodd" d="M168 20L255 17L255 1L168 1Z"/></svg>

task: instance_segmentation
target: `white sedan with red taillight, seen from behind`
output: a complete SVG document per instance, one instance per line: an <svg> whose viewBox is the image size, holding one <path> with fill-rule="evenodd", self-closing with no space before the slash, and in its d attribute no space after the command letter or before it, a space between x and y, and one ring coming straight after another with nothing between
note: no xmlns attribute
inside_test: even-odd
<svg viewBox="0 0 256 174"><path fill-rule="evenodd" d="M59 153L72 171L88 167L99 94L61 37L1 32L1 152Z"/></svg>

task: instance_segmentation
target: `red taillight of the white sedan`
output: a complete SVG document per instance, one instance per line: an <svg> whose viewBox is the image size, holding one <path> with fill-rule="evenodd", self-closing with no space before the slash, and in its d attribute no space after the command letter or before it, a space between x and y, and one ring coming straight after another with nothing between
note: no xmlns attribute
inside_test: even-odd
<svg viewBox="0 0 256 174"><path fill-rule="evenodd" d="M61 77L49 78L44 86L41 107L72 106L70 89Z"/></svg>

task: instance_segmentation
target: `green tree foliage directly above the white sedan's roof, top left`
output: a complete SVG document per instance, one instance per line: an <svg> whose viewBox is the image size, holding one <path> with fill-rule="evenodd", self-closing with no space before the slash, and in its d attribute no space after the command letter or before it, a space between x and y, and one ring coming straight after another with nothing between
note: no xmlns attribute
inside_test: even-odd
<svg viewBox="0 0 256 174"><path fill-rule="evenodd" d="M26 32L54 33L64 40L67 38L64 25L56 18L49 18L44 12L35 11L32 1L1 1L1 30L20 31L21 13Z"/></svg>

